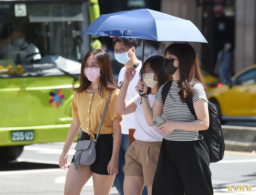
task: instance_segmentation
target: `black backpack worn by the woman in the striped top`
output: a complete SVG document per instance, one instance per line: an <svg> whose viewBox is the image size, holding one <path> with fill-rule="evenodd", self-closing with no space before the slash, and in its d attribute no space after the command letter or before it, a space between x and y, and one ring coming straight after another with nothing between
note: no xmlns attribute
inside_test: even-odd
<svg viewBox="0 0 256 195"><path fill-rule="evenodd" d="M162 100L163 103L169 93L171 88L172 81L165 83L162 90ZM195 116L196 113L193 107L192 97L187 98L187 105L190 112ZM217 110L215 105L211 102L208 102L208 111L210 124L207 130L198 131L200 139L204 139L205 144L208 146L210 162L218 162L223 159L225 143L221 130L220 119L218 118ZM197 120L197 118L196 118Z"/></svg>

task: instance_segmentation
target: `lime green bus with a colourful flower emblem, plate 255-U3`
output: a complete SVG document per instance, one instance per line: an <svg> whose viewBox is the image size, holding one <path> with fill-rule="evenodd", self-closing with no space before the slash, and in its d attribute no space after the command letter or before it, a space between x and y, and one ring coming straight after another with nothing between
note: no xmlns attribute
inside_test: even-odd
<svg viewBox="0 0 256 195"><path fill-rule="evenodd" d="M81 60L100 47L82 33L99 16L98 0L0 0L1 159L65 141Z"/></svg>

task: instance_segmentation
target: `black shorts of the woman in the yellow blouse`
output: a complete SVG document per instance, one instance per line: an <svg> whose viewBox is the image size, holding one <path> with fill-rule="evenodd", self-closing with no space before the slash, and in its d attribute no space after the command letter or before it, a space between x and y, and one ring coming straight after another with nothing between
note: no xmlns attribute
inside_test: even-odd
<svg viewBox="0 0 256 195"><path fill-rule="evenodd" d="M94 135L96 137L96 135ZM90 135L82 132L80 140L90 140ZM108 174L108 163L112 157L113 151L113 133L100 134L96 143L96 160L91 165L91 171L100 175ZM71 160L71 163L75 161L75 155ZM73 166L73 165L72 165Z"/></svg>

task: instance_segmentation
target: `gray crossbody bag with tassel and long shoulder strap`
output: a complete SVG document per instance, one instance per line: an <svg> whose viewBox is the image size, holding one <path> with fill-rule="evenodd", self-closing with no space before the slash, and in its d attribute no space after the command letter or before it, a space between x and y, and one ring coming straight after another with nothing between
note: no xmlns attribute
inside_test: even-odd
<svg viewBox="0 0 256 195"><path fill-rule="evenodd" d="M105 109L100 121L100 126L98 129L98 133L96 136L95 140L82 140L82 141L78 141L75 147L75 161L74 161L74 166L76 170L79 170L79 165L91 165L92 163L94 163L95 159L96 159L96 149L95 149L95 145L97 143L97 138L100 135L100 129L102 126L102 123L104 121L105 118L105 114L108 108L108 103L110 101L110 97L111 97L112 91L110 92L109 96L108 96L108 100L107 103L105 105ZM80 138L79 138L80 140Z"/></svg>

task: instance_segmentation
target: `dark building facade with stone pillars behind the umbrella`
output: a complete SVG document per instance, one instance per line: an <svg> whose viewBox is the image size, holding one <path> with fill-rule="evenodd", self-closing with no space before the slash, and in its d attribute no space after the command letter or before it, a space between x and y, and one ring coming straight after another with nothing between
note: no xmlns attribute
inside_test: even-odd
<svg viewBox="0 0 256 195"><path fill-rule="evenodd" d="M161 0L161 12L191 20L209 44L192 43L211 73L218 51L232 44L235 72L256 64L256 1Z"/></svg>

